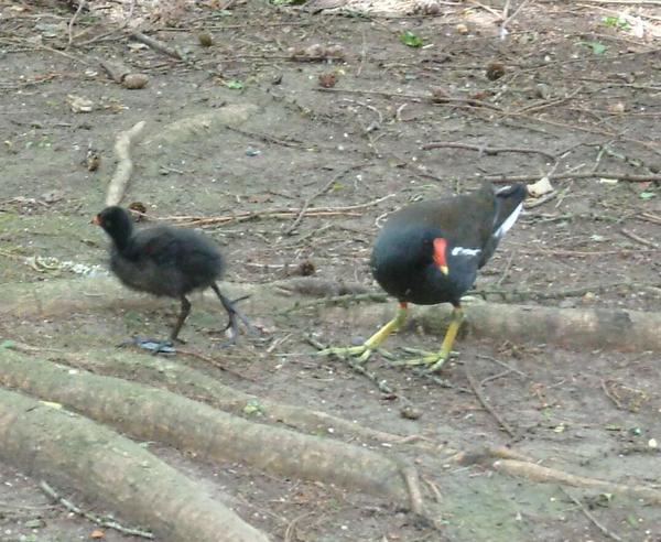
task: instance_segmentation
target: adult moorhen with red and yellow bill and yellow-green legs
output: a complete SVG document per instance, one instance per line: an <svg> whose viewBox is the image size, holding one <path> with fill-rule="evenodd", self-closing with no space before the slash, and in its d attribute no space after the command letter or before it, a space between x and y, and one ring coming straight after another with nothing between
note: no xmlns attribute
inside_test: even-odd
<svg viewBox="0 0 661 542"><path fill-rule="evenodd" d="M467 195L418 202L393 213L375 242L370 267L381 288L399 300L397 315L362 345L326 348L319 354L357 356L366 361L404 323L409 303L452 303L441 350L407 361L438 370L449 357L462 324L462 295L516 223L527 195L522 184L498 189L484 184Z"/></svg>

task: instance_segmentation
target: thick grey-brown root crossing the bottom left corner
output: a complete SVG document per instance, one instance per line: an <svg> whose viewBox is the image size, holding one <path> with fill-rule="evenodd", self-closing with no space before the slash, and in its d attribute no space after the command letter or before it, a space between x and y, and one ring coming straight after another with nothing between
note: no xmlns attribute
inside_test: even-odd
<svg viewBox="0 0 661 542"><path fill-rule="evenodd" d="M55 479L173 542L266 542L206 489L85 418L0 389L0 458Z"/></svg>

